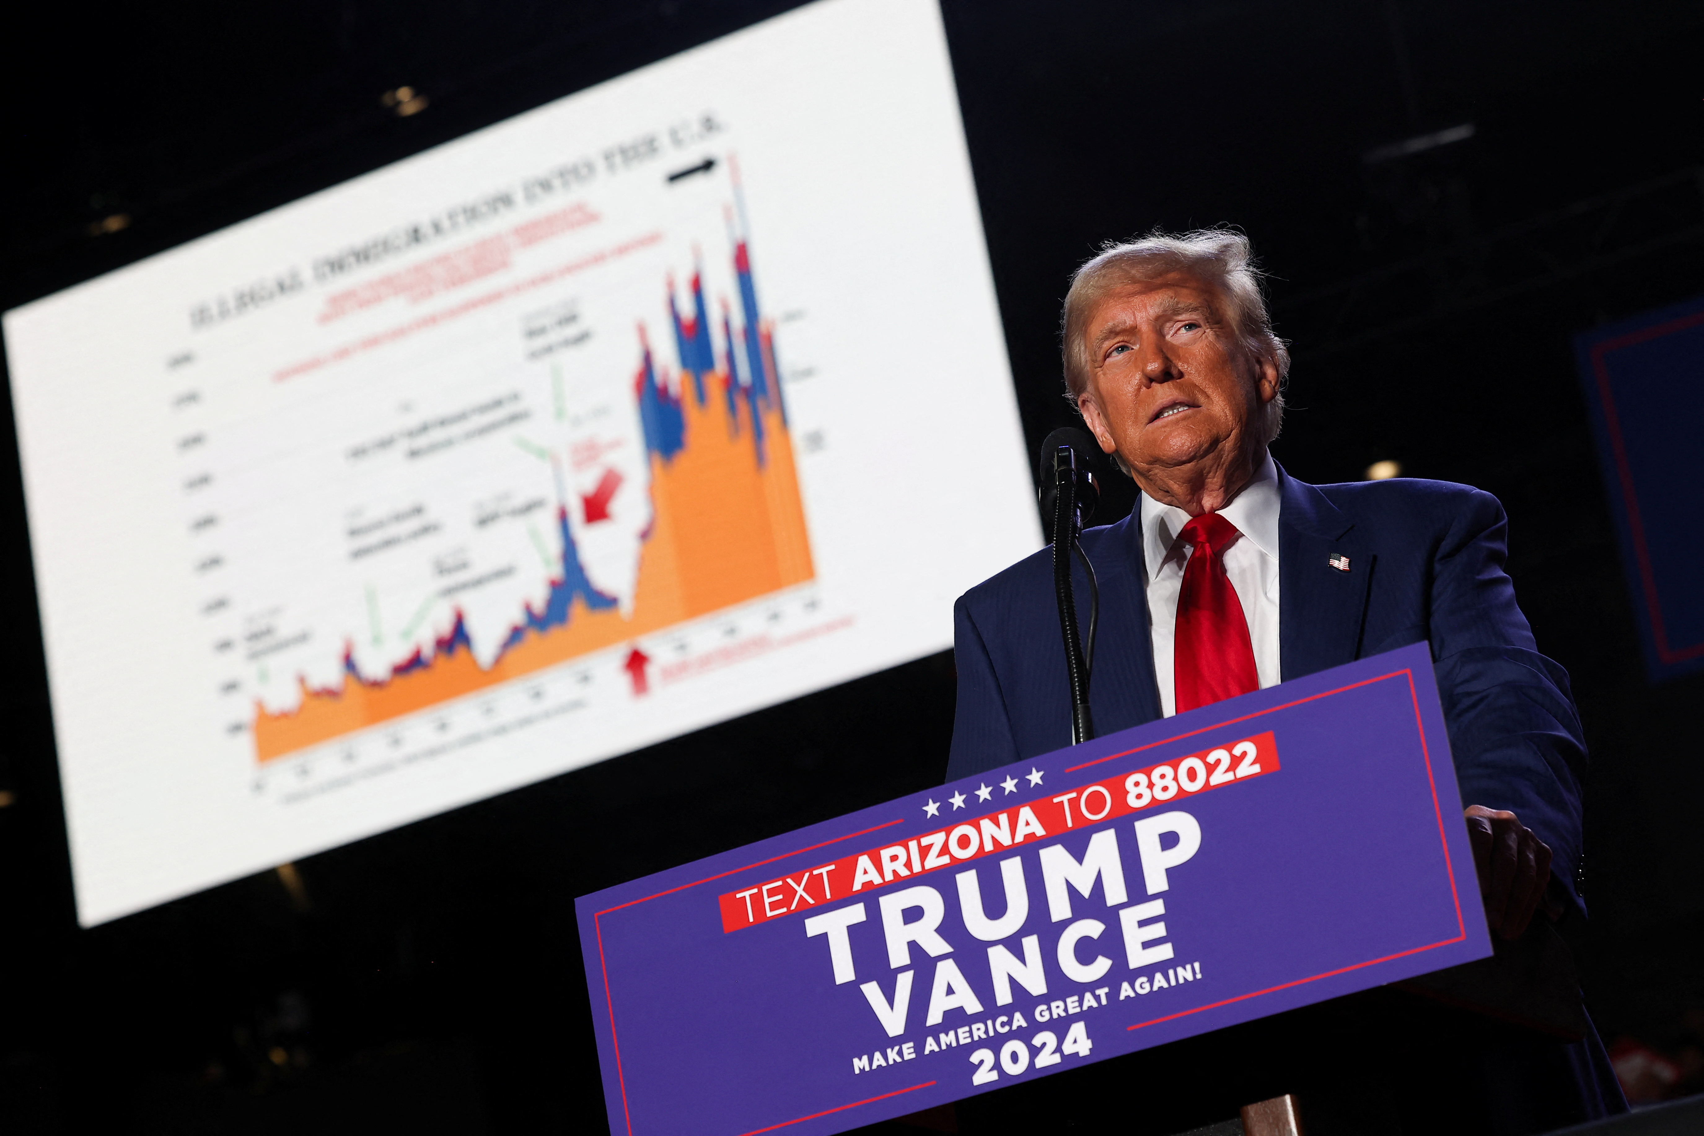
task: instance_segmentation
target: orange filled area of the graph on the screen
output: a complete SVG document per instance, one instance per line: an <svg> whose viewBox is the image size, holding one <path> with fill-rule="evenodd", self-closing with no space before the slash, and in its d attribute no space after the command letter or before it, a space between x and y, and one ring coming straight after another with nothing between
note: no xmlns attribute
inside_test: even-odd
<svg viewBox="0 0 1704 1136"><path fill-rule="evenodd" d="M763 330L765 358L758 366L769 371L774 356ZM680 416L678 446L671 455L651 450L653 525L641 548L630 617L624 618L608 598L600 596L603 603L593 606L576 594L566 618L542 630L523 625L489 669L481 669L472 651L455 649L452 637L440 644L448 651L387 680L349 673L336 690L303 683L296 710L256 710L259 761L809 581L815 569L779 388L770 387L775 395L765 399L700 400L692 397L694 375L680 378L680 397L670 399ZM740 390L726 366L699 378L716 392ZM639 382L653 382L649 356ZM574 552L564 543L566 560Z"/></svg>

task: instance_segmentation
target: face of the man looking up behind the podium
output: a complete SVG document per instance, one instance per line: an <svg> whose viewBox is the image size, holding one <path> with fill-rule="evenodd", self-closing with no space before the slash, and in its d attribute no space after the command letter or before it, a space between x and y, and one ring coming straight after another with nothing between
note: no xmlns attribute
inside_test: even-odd
<svg viewBox="0 0 1704 1136"><path fill-rule="evenodd" d="M1091 310L1082 416L1138 482L1230 472L1251 460L1278 368L1254 359L1222 318L1217 291L1181 273L1125 284Z"/></svg>

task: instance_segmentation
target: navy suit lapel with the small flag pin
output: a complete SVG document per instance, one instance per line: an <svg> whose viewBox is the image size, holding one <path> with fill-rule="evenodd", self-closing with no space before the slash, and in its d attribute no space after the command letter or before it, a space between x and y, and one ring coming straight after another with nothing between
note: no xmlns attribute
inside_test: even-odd
<svg viewBox="0 0 1704 1136"><path fill-rule="evenodd" d="M1278 651L1292 680L1355 661L1377 557L1319 489L1281 467L1278 484ZM1333 565L1341 557L1348 571Z"/></svg>

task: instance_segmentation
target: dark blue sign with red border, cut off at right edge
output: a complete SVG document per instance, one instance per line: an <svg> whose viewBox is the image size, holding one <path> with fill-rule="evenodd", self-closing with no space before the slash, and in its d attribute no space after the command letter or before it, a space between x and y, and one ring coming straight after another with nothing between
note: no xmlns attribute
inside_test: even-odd
<svg viewBox="0 0 1704 1136"><path fill-rule="evenodd" d="M1704 669L1704 298L1574 342L1592 431L1653 680Z"/></svg>

